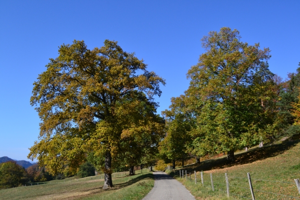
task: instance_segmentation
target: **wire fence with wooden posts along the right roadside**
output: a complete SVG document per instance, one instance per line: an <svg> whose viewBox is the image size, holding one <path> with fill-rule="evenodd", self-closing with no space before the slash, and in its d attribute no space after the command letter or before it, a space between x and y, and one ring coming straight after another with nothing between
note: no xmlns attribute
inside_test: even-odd
<svg viewBox="0 0 300 200"><path fill-rule="evenodd" d="M205 171L173 170L176 178L198 189L210 190L209 194L222 194L240 199L300 199L299 179L294 181L271 180L250 177L250 173L241 175L209 173ZM188 183L189 182L189 183ZM199 186L200 185L200 186ZM212 193L211 193L212 192Z"/></svg>

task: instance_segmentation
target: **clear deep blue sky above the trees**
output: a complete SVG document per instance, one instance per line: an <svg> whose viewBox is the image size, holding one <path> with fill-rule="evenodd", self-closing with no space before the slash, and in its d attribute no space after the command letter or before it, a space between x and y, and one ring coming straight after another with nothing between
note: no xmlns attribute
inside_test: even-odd
<svg viewBox="0 0 300 200"><path fill-rule="evenodd" d="M242 41L269 47L270 70L283 78L300 61L299 0L1 0L0 157L26 159L39 118L29 104L32 83L58 46L89 48L117 40L166 79L158 112L188 87L186 72L203 52L200 39L223 26Z"/></svg>

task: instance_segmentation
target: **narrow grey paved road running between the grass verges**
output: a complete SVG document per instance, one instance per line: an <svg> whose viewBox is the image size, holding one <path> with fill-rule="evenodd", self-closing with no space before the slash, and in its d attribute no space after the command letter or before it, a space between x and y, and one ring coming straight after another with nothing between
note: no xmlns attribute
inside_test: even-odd
<svg viewBox="0 0 300 200"><path fill-rule="evenodd" d="M143 200L195 200L189 191L165 172L153 172L154 187Z"/></svg>

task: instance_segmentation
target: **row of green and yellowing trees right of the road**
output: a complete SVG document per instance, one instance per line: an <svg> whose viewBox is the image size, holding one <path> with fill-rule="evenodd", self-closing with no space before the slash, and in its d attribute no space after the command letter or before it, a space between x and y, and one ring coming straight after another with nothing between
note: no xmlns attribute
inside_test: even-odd
<svg viewBox="0 0 300 200"><path fill-rule="evenodd" d="M163 111L167 134L160 156L167 162L260 146L283 135L299 133L300 68L289 79L268 69L268 48L240 41L239 32L223 27L202 39L205 52L192 66L184 95L173 97ZM291 112L292 106L297 112ZM174 166L173 166L174 167Z"/></svg>

